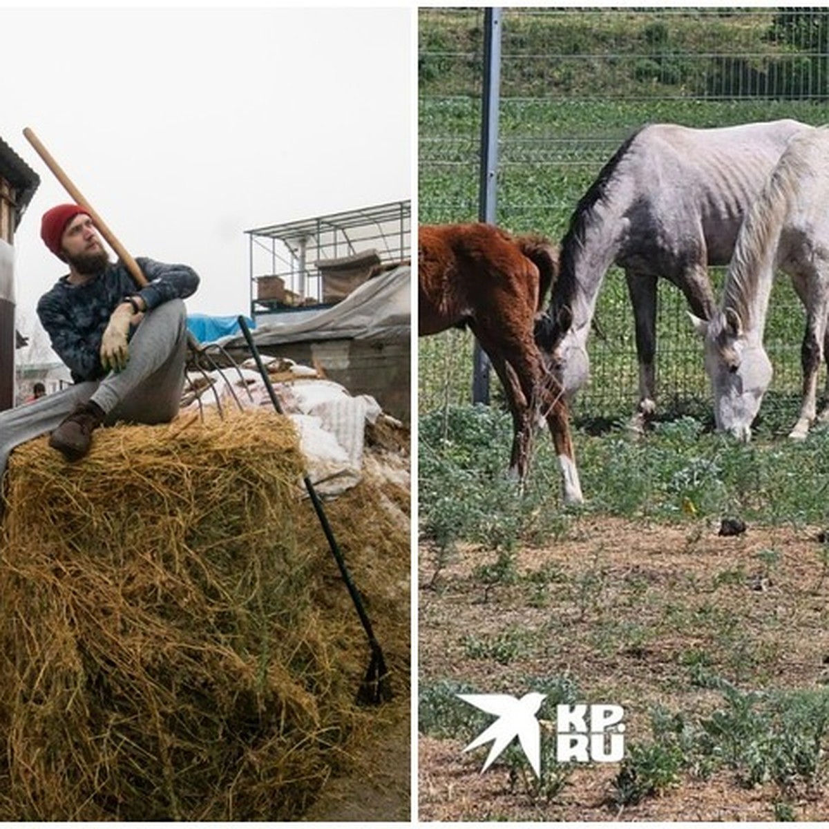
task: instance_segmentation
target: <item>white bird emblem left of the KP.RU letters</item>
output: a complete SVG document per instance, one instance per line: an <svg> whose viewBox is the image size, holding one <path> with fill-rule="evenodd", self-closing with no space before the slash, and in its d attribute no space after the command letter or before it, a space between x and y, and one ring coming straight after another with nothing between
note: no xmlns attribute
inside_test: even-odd
<svg viewBox="0 0 829 829"><path fill-rule="evenodd" d="M468 702L469 705L474 705L498 718L463 749L464 752L471 751L492 740L492 748L489 749L489 756L487 762L483 764L481 773L484 773L498 759L507 745L517 737L536 777L541 777L541 726L536 720L536 714L546 694L532 692L525 694L520 700L509 694L458 694L456 696Z"/></svg>

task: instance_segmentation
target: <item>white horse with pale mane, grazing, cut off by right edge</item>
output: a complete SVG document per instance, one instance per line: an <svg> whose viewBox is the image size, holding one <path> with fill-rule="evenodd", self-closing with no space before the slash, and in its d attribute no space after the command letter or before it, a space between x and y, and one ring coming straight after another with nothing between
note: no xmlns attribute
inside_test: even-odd
<svg viewBox="0 0 829 829"><path fill-rule="evenodd" d="M817 371L829 356L829 127L794 138L739 231L720 309L694 319L705 338L717 428L742 440L772 379L763 336L774 269L792 279L806 308L803 399L789 435L805 438L817 417ZM821 414L827 417L827 412Z"/></svg>

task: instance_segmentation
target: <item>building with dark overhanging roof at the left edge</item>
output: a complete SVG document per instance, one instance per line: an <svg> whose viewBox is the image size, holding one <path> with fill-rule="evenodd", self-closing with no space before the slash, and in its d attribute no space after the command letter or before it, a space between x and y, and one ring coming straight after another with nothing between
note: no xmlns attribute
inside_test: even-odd
<svg viewBox="0 0 829 829"><path fill-rule="evenodd" d="M0 411L15 404L14 234L40 177L0 138Z"/></svg>

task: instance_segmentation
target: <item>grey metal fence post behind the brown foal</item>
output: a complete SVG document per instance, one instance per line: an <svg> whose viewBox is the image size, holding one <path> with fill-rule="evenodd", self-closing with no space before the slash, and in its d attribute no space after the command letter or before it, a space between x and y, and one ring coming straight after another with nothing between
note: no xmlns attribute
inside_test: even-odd
<svg viewBox="0 0 829 829"><path fill-rule="evenodd" d="M498 167L498 103L501 97L501 9L484 10L483 95L481 117L481 178L478 221L496 224ZM473 403L489 403L490 364L475 341Z"/></svg>

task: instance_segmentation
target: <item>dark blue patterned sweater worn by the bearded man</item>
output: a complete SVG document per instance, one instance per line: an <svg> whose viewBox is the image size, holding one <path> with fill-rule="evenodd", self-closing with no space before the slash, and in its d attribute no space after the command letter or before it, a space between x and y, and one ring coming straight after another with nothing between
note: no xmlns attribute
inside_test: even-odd
<svg viewBox="0 0 829 829"><path fill-rule="evenodd" d="M118 262L83 285L70 285L66 276L61 277L37 303L37 316L51 346L76 383L106 375L99 354L101 338L124 297L141 296L149 311L169 299L187 298L198 288L198 274L187 265L146 258L136 262L149 283L140 290L124 264Z"/></svg>

